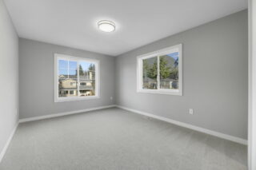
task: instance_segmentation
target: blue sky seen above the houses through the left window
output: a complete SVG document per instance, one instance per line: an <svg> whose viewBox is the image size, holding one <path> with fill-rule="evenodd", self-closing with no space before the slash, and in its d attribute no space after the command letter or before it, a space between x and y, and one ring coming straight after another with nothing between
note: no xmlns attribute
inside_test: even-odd
<svg viewBox="0 0 256 170"><path fill-rule="evenodd" d="M68 63L69 62L69 63ZM66 61L66 60L59 60L58 61L58 74L59 75L75 75L77 69L77 61ZM82 66L83 70L88 70L90 66L90 62L86 61L79 61L79 65ZM68 69L68 65L70 68Z"/></svg>

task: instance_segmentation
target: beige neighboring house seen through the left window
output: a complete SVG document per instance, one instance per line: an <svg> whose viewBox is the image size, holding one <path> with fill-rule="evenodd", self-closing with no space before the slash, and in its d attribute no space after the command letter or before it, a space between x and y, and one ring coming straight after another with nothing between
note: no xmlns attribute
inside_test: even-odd
<svg viewBox="0 0 256 170"><path fill-rule="evenodd" d="M67 78L66 75L58 77L59 97L93 96L94 95L94 73L89 71L77 78Z"/></svg>

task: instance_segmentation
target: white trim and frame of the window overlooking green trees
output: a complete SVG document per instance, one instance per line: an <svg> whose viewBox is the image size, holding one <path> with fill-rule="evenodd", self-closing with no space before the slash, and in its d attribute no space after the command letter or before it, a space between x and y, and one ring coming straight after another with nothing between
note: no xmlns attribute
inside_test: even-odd
<svg viewBox="0 0 256 170"><path fill-rule="evenodd" d="M160 89L159 82L160 77L157 77L158 80L158 89L142 89L143 77L142 77L142 60L150 57L158 57L159 56L176 52L178 49L178 89ZM159 68L159 61L158 61L158 68ZM158 75L159 75L158 69ZM156 93L156 94L170 94L170 95L177 95L182 96L182 44L173 45L165 49L160 49L154 51L152 53L146 53L137 57L137 92L138 93Z"/></svg>

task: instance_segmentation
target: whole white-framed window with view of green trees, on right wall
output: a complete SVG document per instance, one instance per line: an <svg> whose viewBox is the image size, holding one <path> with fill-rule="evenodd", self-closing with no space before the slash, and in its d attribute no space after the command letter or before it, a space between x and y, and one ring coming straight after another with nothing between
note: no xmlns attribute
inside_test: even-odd
<svg viewBox="0 0 256 170"><path fill-rule="evenodd" d="M182 44L138 56L137 89L182 96Z"/></svg>

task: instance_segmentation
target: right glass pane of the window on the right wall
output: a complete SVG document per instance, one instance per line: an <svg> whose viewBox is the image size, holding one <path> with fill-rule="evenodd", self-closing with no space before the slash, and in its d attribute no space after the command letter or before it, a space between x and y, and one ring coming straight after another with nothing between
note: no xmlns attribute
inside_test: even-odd
<svg viewBox="0 0 256 170"><path fill-rule="evenodd" d="M160 56L160 89L178 89L178 52Z"/></svg>

